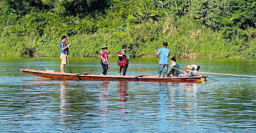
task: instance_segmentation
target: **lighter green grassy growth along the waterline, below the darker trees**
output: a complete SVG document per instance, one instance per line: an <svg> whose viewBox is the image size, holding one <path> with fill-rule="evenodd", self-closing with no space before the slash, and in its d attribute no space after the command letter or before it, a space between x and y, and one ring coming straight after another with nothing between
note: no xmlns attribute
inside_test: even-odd
<svg viewBox="0 0 256 133"><path fill-rule="evenodd" d="M60 37L7 36L0 40L1 56L59 56ZM222 33L214 32L195 22L189 16L169 16L159 22L148 21L134 25L125 32L79 34L72 39L70 56L98 56L103 43L109 45L109 55L116 56L122 44L128 45L133 57L154 57L164 41L169 43L171 56L181 58L256 58L256 39L225 40Z"/></svg>

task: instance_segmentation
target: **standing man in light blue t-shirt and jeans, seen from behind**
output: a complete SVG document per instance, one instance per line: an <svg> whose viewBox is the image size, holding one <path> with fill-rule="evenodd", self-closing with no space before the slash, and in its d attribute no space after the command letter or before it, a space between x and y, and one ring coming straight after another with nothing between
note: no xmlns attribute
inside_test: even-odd
<svg viewBox="0 0 256 133"><path fill-rule="evenodd" d="M170 50L167 48L168 43L165 41L163 43L163 47L160 48L158 51L155 50L156 55L160 55L161 59L159 61L159 67L157 71L157 77L161 76L161 72L164 69L164 76L167 77L167 70L169 66L169 55L170 55Z"/></svg>

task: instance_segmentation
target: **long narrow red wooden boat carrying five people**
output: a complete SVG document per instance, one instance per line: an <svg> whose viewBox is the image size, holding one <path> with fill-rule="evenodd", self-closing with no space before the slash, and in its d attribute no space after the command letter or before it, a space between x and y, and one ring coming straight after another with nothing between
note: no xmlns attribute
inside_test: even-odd
<svg viewBox="0 0 256 133"><path fill-rule="evenodd" d="M155 82L201 82L205 81L206 77L157 77L157 76L117 76L117 75L98 75L88 73L59 73L40 70L20 69L22 73L36 75L49 79L67 79L67 80L94 80L94 81L155 81Z"/></svg>

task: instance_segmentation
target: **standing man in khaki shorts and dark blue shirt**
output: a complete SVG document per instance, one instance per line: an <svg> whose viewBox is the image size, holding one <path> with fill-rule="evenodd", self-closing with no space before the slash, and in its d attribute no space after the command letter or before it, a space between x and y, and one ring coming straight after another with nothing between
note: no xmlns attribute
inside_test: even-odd
<svg viewBox="0 0 256 133"><path fill-rule="evenodd" d="M67 36L63 35L61 37L61 42L60 42L60 59L61 59L61 64L60 64L60 72L64 73L64 67L66 65L66 60L67 60L67 55L69 53L68 49L71 46L71 43L68 45L66 44L67 41Z"/></svg>

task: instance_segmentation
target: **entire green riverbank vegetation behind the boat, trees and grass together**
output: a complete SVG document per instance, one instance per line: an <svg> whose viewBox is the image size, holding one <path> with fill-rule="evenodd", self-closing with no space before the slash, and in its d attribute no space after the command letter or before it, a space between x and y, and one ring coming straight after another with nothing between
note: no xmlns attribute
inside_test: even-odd
<svg viewBox="0 0 256 133"><path fill-rule="evenodd" d="M1 56L98 56L122 44L133 57L153 57L169 43L171 56L256 58L253 0L2 0Z"/></svg>

